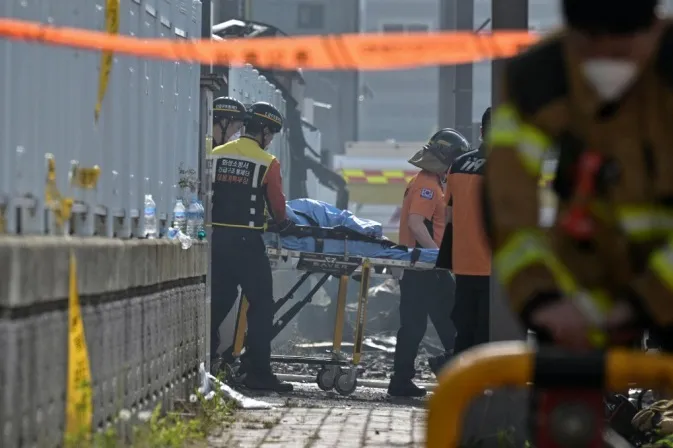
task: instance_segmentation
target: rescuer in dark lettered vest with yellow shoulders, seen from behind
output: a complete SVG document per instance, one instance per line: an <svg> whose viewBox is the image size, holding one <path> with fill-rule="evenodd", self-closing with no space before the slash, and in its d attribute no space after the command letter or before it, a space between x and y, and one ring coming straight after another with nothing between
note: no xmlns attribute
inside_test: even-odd
<svg viewBox="0 0 673 448"><path fill-rule="evenodd" d="M248 334L243 360L249 389L287 392L289 383L271 372L274 301L271 266L262 240L265 211L281 227L290 225L278 160L268 152L283 128L280 112L268 103L250 106L243 136L213 150L213 236L211 353L219 327L238 298L248 300Z"/></svg>

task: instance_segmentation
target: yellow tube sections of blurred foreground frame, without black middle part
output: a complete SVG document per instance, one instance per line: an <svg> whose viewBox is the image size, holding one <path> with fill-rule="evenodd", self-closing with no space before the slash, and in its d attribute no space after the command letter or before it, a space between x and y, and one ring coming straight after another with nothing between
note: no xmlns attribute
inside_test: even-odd
<svg viewBox="0 0 673 448"><path fill-rule="evenodd" d="M487 389L527 387L534 374L536 352L525 342L502 342L473 348L441 373L430 400L426 445L457 448L468 404ZM673 356L613 349L605 356L605 385L623 390L673 386Z"/></svg>

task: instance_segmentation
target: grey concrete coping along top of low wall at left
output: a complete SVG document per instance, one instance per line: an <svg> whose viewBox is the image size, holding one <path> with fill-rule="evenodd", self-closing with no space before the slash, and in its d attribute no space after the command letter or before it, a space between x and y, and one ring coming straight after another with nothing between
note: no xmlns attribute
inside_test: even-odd
<svg viewBox="0 0 673 448"><path fill-rule="evenodd" d="M0 237L0 307L62 300L69 293L69 256L74 250L80 295L205 276L208 243L183 250L169 240L118 240L51 236Z"/></svg>

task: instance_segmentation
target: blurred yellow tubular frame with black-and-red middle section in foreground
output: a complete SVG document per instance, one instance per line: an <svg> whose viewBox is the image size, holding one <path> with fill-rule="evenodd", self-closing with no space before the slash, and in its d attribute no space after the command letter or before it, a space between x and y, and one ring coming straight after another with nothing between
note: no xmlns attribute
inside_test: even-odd
<svg viewBox="0 0 673 448"><path fill-rule="evenodd" d="M428 448L457 448L468 404L489 389L531 387L532 446L603 447L603 392L670 389L673 356L612 349L569 354L525 342L486 344L454 360L429 403ZM542 393L539 393L542 391Z"/></svg>

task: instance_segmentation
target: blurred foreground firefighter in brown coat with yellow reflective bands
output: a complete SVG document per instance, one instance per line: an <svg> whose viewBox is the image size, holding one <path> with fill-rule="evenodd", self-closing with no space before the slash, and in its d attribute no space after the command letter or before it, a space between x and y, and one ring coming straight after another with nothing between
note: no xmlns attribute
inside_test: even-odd
<svg viewBox="0 0 673 448"><path fill-rule="evenodd" d="M568 349L649 325L673 348L673 21L657 3L563 0L565 28L508 61L493 113L495 272L523 322ZM542 231L552 147L559 207Z"/></svg>

